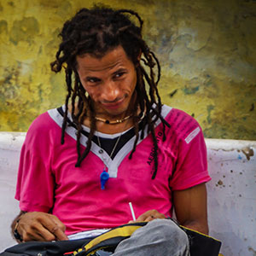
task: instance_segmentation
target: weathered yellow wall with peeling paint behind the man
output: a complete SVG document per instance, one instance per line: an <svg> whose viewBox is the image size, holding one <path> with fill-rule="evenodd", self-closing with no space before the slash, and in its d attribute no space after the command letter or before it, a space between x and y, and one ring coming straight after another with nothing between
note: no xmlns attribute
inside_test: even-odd
<svg viewBox="0 0 256 256"><path fill-rule="evenodd" d="M0 131L26 131L62 104L49 71L64 20L98 1L0 0ZM256 139L255 0L109 0L143 16L162 66L163 102L195 116L206 137Z"/></svg>

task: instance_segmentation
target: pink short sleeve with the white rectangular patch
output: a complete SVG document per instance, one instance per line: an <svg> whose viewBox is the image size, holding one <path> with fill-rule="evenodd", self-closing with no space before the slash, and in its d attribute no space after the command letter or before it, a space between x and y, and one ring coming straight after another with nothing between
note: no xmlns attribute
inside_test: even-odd
<svg viewBox="0 0 256 256"><path fill-rule="evenodd" d="M207 147L201 127L195 119L189 119L189 126L177 141L177 163L170 181L172 190L189 189L211 180L207 171Z"/></svg>

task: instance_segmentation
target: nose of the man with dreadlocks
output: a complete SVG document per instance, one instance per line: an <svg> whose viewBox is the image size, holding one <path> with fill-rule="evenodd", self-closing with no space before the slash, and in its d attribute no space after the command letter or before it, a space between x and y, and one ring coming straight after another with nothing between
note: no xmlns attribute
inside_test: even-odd
<svg viewBox="0 0 256 256"><path fill-rule="evenodd" d="M103 102L117 102L119 100L120 90L118 83L115 83L113 80L110 80L107 81L102 87Z"/></svg>

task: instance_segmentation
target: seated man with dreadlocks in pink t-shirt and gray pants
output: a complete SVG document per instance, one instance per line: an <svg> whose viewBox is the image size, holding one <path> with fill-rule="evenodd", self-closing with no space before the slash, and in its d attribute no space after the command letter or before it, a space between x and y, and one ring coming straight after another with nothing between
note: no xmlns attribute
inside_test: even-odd
<svg viewBox="0 0 256 256"><path fill-rule="evenodd" d="M201 128L162 105L142 26L131 10L98 7L64 24L51 67L65 69L67 99L32 123L21 150L12 224L20 241L100 234L131 220L129 202L148 224L113 255L189 255L187 236L166 219L173 207L180 224L207 234Z"/></svg>

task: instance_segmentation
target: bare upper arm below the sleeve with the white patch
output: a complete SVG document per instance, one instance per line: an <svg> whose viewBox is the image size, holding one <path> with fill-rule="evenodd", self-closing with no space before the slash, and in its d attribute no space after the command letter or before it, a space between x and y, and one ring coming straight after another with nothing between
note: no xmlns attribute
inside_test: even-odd
<svg viewBox="0 0 256 256"><path fill-rule="evenodd" d="M207 188L205 183L173 191L177 221L185 227L208 234Z"/></svg>

